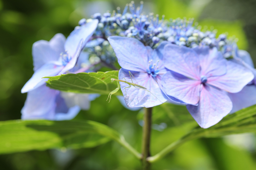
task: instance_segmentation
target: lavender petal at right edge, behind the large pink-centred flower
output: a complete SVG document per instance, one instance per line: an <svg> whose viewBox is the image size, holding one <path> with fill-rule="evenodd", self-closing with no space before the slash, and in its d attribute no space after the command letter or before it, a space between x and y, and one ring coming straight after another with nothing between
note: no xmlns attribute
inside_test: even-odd
<svg viewBox="0 0 256 170"><path fill-rule="evenodd" d="M254 84L246 85L238 93L228 93L228 96L233 103L230 113L234 113L256 104L256 86Z"/></svg>

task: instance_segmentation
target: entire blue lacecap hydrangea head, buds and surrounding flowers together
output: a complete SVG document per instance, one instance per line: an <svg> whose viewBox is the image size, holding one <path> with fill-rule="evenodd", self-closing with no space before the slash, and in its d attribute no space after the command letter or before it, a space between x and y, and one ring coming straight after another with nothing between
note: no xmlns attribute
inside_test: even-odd
<svg viewBox="0 0 256 170"><path fill-rule="evenodd" d="M129 80L130 71L135 83L150 91L120 83L129 108L153 107L167 100L183 103L207 128L230 112L256 104L256 71L236 39L226 34L216 37L216 30L204 30L194 19L143 14L142 7L143 2L136 8L132 1L122 13L119 7L117 12L95 13L81 19L67 40L56 34L49 42L34 43L35 73L22 89L28 92L22 117L63 120L88 109L95 95L52 90L41 78L103 66L116 69L116 59L119 79Z"/></svg>

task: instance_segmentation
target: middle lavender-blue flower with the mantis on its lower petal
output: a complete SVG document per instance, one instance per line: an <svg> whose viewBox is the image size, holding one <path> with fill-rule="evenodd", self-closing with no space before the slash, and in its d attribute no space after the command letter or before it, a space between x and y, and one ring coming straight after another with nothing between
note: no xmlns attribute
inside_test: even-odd
<svg viewBox="0 0 256 170"><path fill-rule="evenodd" d="M135 38L111 36L108 38L113 47L118 63L122 67L119 79L131 82L129 71L133 74L135 84L147 88L150 92L120 82L121 90L128 107L153 107L167 100L161 90L161 77L166 73L163 63L163 48L166 42L156 49L144 46ZM157 97L157 98L156 98Z"/></svg>

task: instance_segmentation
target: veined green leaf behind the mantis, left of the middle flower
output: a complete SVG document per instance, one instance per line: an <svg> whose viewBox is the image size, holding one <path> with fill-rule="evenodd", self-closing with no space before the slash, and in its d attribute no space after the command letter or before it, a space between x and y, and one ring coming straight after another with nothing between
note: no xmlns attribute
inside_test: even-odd
<svg viewBox="0 0 256 170"><path fill-rule="evenodd" d="M56 90L74 93L98 93L108 95L118 87L117 83L111 82L111 78L118 79L119 71L62 74L54 77L46 77L49 80L47 86ZM115 95L122 95L119 90Z"/></svg>

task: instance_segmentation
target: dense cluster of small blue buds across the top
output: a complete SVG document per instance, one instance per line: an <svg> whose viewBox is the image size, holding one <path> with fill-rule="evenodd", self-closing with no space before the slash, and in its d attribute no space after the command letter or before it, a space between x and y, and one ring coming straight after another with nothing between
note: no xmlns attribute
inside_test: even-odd
<svg viewBox="0 0 256 170"><path fill-rule="evenodd" d="M130 12L127 12L127 10ZM91 53L91 56L98 56L103 62L113 64L116 61L115 53L109 45L107 38L118 35L133 37L140 40L145 46L156 48L162 41L183 45L190 48L208 45L217 47L226 58L233 55L236 39L228 40L226 34L216 37L217 30L213 27L210 30L202 29L193 18L177 18L164 20L159 15L142 13L143 2L135 7L134 2L126 4L121 13L120 7L112 14L107 11L103 15L95 13L91 19L81 19L79 25L83 25L92 19L98 19L98 27L95 30L91 42L88 42L84 50Z"/></svg>

